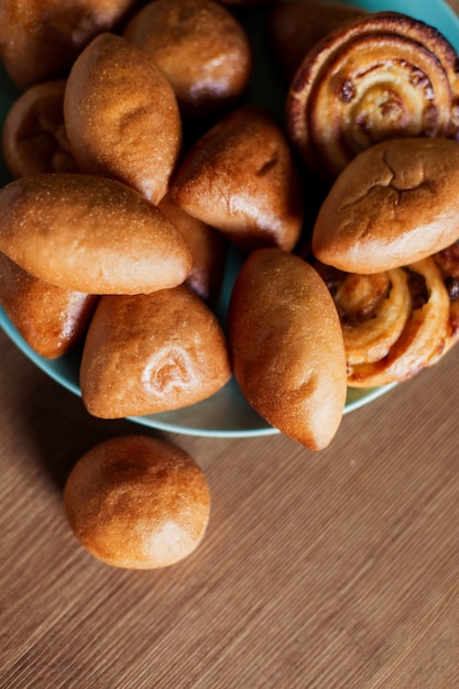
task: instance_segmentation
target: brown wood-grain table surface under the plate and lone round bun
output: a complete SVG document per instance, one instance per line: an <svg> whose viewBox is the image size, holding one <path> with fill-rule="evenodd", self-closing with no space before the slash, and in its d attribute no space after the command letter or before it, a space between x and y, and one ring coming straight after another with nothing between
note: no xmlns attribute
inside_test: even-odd
<svg viewBox="0 0 459 689"><path fill-rule="evenodd" d="M459 687L457 407L459 347L321 452L147 431L204 468L211 517L182 564L127 571L77 544L62 489L140 427L89 417L1 333L0 687Z"/></svg>

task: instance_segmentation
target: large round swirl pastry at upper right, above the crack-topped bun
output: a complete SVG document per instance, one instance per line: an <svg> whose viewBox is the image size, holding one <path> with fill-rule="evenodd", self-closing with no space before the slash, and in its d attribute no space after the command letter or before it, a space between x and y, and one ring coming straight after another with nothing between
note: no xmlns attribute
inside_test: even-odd
<svg viewBox="0 0 459 689"><path fill-rule="evenodd" d="M457 59L437 30L397 12L347 23L298 67L286 105L289 138L327 182L379 141L455 138Z"/></svg>

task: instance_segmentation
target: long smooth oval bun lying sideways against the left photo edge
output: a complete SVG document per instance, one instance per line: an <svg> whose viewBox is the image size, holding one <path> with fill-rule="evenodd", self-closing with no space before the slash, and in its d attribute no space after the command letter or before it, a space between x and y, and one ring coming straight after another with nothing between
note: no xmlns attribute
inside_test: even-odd
<svg viewBox="0 0 459 689"><path fill-rule="evenodd" d="M130 187L81 174L21 177L0 189L0 251L64 289L136 294L187 277L185 240Z"/></svg>

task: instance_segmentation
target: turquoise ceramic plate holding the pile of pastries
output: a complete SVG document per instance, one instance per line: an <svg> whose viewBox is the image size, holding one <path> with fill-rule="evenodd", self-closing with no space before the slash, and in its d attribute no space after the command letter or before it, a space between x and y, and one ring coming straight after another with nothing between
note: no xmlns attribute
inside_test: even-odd
<svg viewBox="0 0 459 689"><path fill-rule="evenodd" d="M419 0L352 0L352 4L370 11L394 10L409 14L438 29L459 52L459 20L442 0L428 0L428 2L420 2ZM276 79L275 69L273 69L270 58L266 57L263 33L260 32L263 19L263 10L250 10L241 14L241 22L244 24L254 48L255 67L250 100L267 106L275 116L283 117L285 87ZM0 72L0 122L3 122L15 96L14 87L4 73ZM8 171L3 161L0 160L0 183L6 184L8 181ZM219 316L222 319L237 269L237 258L231 255L218 306ZM0 326L18 348L42 371L72 393L80 395L78 384L80 350L57 360L47 360L31 350L2 309L0 309ZM393 385L372 390L350 389L345 413L369 404L392 387ZM249 406L234 380L231 380L212 397L199 404L174 412L135 417L132 420L160 430L206 437L241 438L278 433Z"/></svg>

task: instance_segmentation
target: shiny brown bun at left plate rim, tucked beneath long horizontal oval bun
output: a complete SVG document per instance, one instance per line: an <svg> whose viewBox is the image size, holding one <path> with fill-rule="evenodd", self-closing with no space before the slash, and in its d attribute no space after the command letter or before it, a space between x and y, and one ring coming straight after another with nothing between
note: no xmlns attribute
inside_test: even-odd
<svg viewBox="0 0 459 689"><path fill-rule="evenodd" d="M34 277L0 253L0 304L29 347L55 359L80 341L97 297Z"/></svg>

